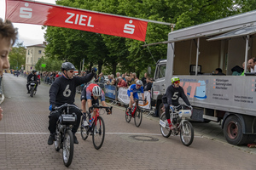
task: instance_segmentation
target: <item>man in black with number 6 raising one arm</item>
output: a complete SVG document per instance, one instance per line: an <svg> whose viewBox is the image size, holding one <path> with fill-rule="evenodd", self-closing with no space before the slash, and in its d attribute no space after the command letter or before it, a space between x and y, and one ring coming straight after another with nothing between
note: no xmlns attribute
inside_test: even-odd
<svg viewBox="0 0 256 170"><path fill-rule="evenodd" d="M48 144L53 144L55 138L55 127L59 116L61 116L62 111L54 111L55 106L61 106L64 104L74 105L74 99L76 94L77 86L90 82L92 77L94 77L96 68L92 69L92 72L84 77L74 77L75 67L70 62L62 63L61 71L63 72L61 77L58 77L55 82L52 83L49 88L49 139ZM73 139L74 144L79 144L78 139L75 136L79 128L79 122L81 119L81 112L76 108L70 108L71 113L77 115L77 123L73 126Z"/></svg>

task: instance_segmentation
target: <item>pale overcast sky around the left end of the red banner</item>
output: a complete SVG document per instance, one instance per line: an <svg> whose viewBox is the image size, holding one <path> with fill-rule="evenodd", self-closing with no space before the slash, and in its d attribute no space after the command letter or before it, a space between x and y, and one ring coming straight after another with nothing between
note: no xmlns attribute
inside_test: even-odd
<svg viewBox="0 0 256 170"><path fill-rule="evenodd" d="M36 0L36 2L55 4L55 0ZM0 18L5 19L5 0L0 0ZM14 23L14 26L19 29L18 42L23 42L23 45L29 46L44 42L42 26L19 23Z"/></svg>

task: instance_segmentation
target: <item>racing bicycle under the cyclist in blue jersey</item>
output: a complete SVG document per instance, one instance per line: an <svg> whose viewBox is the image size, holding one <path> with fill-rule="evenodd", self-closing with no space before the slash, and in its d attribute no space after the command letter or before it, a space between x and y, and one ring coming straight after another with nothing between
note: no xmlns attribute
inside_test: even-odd
<svg viewBox="0 0 256 170"><path fill-rule="evenodd" d="M134 99L135 100L135 105L132 105L131 107L131 115L129 114L128 107L125 109L125 121L126 122L131 122L131 117L134 118L134 123L135 126L139 127L143 121L143 111L141 107L138 105L139 101L147 101L146 99Z"/></svg>

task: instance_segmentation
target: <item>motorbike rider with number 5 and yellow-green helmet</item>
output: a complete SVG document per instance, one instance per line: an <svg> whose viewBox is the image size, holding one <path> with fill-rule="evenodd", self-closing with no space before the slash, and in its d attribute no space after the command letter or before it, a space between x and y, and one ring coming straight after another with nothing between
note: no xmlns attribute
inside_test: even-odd
<svg viewBox="0 0 256 170"><path fill-rule="evenodd" d="M165 109L166 109L166 119L167 122L169 123L169 127L171 130L173 130L173 128L175 128L172 125L172 122L170 120L170 109L173 110L173 106L177 106L179 105L178 103L178 99L181 97L183 99L183 101L186 103L186 105L190 106L189 103L189 99L187 98L187 96L184 93L184 90L181 86L179 86L179 82L180 79L178 77L172 77L171 79L172 81L172 85L170 85L167 90L166 90L166 94L163 95L162 100L163 100L163 104L165 105Z"/></svg>

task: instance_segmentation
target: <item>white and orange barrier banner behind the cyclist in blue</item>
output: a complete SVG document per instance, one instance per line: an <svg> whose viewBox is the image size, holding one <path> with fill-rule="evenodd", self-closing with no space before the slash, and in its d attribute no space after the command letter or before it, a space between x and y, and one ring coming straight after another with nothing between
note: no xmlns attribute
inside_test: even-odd
<svg viewBox="0 0 256 170"><path fill-rule="evenodd" d="M118 99L120 102L123 102L128 105L130 103L130 98L128 97L127 89L128 88L119 88ZM143 99L142 94L138 94L138 97L139 99ZM143 105L143 101L139 101L139 106L149 110L151 101L150 93L148 91L144 92L144 97L147 99L146 105Z"/></svg>

